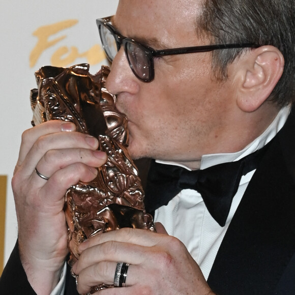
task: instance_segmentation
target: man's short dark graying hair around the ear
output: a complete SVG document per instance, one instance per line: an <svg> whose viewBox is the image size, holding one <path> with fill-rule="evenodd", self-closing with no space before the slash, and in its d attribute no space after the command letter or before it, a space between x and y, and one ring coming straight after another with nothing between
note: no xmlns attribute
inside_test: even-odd
<svg viewBox="0 0 295 295"><path fill-rule="evenodd" d="M196 30L216 44L254 43L277 47L284 56L285 66L269 100L284 106L295 101L294 19L294 0L204 0ZM226 79L227 66L243 50L212 52L213 69L219 79Z"/></svg>

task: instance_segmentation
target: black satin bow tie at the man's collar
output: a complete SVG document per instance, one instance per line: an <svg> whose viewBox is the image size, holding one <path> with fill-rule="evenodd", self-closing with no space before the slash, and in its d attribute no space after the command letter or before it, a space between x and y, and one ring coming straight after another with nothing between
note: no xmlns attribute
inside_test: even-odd
<svg viewBox="0 0 295 295"><path fill-rule="evenodd" d="M269 144L239 161L189 171L179 166L152 161L145 189L145 209L154 212L183 189L198 191L211 216L224 226L242 175L257 168Z"/></svg>

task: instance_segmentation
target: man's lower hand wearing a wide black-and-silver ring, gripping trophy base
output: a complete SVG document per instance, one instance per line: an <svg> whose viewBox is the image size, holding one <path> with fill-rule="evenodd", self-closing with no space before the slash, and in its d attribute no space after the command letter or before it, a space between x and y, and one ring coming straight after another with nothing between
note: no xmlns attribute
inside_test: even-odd
<svg viewBox="0 0 295 295"><path fill-rule="evenodd" d="M122 261L130 263L126 287L99 294L214 294L183 243L170 237L161 224L156 229L157 233L123 228L82 243L73 267L79 293L101 283L112 285L116 264Z"/></svg>

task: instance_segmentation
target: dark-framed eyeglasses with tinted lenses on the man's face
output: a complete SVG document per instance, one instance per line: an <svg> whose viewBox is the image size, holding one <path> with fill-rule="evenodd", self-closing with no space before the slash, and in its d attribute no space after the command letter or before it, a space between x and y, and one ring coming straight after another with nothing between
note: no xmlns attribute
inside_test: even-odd
<svg viewBox="0 0 295 295"><path fill-rule="evenodd" d="M151 82L155 77L154 57L156 56L208 52L217 49L259 47L259 45L252 43L237 43L155 50L133 39L122 36L111 25L111 16L99 18L96 20L96 23L103 49L109 61L113 61L115 55L123 46L132 72L138 79L144 82Z"/></svg>

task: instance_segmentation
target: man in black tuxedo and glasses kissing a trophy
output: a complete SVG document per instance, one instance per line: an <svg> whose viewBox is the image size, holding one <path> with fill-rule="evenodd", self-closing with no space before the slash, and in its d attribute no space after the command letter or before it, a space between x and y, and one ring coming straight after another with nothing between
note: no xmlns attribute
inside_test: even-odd
<svg viewBox="0 0 295 295"><path fill-rule="evenodd" d="M185 188L166 205L151 206L163 224L157 233L121 229L83 243L73 267L79 293L113 284L118 261L130 264L126 287L102 294L294 293L294 6L293 0L122 0L111 22L98 21L117 43L131 39L113 57L107 88L128 117L133 158L203 170L258 153L240 173L225 217L216 220L198 189ZM220 44L225 49L196 49ZM165 55L142 45L195 48ZM16 248L2 286L22 268L27 280L15 279L10 292L2 287L6 293L63 292L57 285L68 253L63 196L95 177L105 161L97 146L70 123L24 132L12 182L20 260ZM68 276L65 285L73 294L75 280Z"/></svg>

